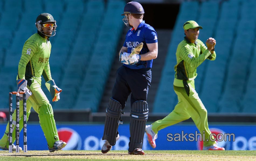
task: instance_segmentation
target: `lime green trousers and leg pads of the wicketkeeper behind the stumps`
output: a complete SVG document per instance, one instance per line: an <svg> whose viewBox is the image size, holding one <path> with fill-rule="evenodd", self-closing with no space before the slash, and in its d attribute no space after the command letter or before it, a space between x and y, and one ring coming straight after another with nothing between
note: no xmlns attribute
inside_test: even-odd
<svg viewBox="0 0 256 161"><path fill-rule="evenodd" d="M47 144L50 148L53 147L55 141L59 141L58 132L53 118L53 109L43 90L41 89L41 81L33 79L32 84L27 86L27 88L32 92L32 96L27 99L27 120L29 118L30 109L33 109L37 112L40 120L40 126L46 137ZM23 103L20 101L20 122L19 129L20 131L23 128ZM16 109L12 114L13 118L13 131L12 131L12 142L15 141L15 129L16 129ZM28 124L29 126L29 124ZM29 133L29 131L27 131ZM8 147L8 133L9 133L9 122L6 126L4 136L0 140L1 147Z"/></svg>

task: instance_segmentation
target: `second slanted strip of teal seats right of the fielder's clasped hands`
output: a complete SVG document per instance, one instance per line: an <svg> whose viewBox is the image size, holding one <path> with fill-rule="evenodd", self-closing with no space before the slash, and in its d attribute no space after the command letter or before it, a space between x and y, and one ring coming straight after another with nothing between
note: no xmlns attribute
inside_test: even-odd
<svg viewBox="0 0 256 161"><path fill-rule="evenodd" d="M244 10L245 7L247 6L242 5L241 9ZM246 14L246 12L241 12L241 19L238 22L237 30L235 30L237 35L236 39L233 40L233 50L231 50L229 57L228 72L226 79L224 79L226 83L222 99L219 103L220 112L243 111L243 106L240 102L244 95L244 85L247 83L245 78L248 71L247 65L251 59L252 41L255 39L254 35L251 34L255 32L255 24L250 24L248 20L243 18L246 17L243 14ZM244 43L245 37L248 40L247 43Z"/></svg>

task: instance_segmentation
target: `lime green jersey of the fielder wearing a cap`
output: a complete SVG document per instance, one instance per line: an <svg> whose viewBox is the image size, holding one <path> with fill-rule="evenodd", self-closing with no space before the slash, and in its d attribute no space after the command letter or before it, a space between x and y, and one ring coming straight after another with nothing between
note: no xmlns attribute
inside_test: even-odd
<svg viewBox="0 0 256 161"><path fill-rule="evenodd" d="M195 43L191 43L185 37L177 47L176 58L174 85L183 86L182 80L189 82L195 79L196 68L206 59L215 60L216 53L211 54L201 40L197 39Z"/></svg>

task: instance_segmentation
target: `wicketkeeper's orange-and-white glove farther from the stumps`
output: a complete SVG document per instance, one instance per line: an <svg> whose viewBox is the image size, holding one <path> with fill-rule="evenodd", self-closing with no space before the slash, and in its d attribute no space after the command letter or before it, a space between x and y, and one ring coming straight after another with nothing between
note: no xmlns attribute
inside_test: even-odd
<svg viewBox="0 0 256 161"><path fill-rule="evenodd" d="M57 102L58 100L60 100L60 93L62 92L62 89L60 89L56 86L53 79L48 80L45 83L45 86L49 90L51 97L53 98L53 100L52 100L53 102Z"/></svg>

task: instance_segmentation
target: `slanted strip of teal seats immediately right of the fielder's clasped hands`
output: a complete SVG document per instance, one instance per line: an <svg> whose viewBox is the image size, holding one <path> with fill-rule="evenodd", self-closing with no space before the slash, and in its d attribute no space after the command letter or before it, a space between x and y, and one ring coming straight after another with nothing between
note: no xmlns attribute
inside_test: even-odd
<svg viewBox="0 0 256 161"><path fill-rule="evenodd" d="M230 13L226 12L227 10L233 13L230 18L228 18ZM217 26L214 26L214 38L217 41L217 45L215 46L217 57L215 61L207 62L204 75L205 80L202 84L202 92L200 93L200 98L208 112L220 112L220 108L222 108L219 105L219 100L222 99L223 80L225 79L224 69L229 61L231 42L233 42L235 31L235 26L232 24L237 21L237 11L238 5L230 5L229 2L223 2L219 11L220 16ZM213 86L214 88L212 88ZM210 96L209 91L211 91Z"/></svg>

